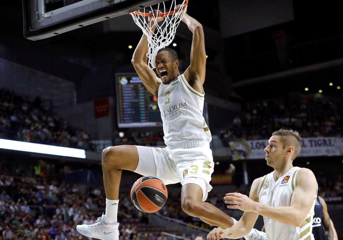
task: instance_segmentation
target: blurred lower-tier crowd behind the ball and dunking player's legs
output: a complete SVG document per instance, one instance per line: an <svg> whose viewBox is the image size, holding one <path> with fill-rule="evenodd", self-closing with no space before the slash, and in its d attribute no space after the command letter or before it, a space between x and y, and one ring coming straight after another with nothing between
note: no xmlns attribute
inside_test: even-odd
<svg viewBox="0 0 343 240"><path fill-rule="evenodd" d="M327 202L343 202L343 177L318 175L319 195ZM249 186L235 190L249 193ZM222 210L225 193L209 193L206 201ZM181 209L179 194L168 194L160 214L192 221ZM105 209L102 187L71 185L56 179L28 174L0 175L0 240L86 240L76 231L78 224L93 224ZM131 203L128 192L119 195L120 240L166 240L163 227L149 225L147 214Z"/></svg>

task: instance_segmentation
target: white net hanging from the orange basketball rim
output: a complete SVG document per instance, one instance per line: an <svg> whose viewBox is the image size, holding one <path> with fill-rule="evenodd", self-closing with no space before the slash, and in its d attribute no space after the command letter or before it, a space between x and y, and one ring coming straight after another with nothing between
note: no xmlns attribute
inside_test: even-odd
<svg viewBox="0 0 343 240"><path fill-rule="evenodd" d="M158 10L160 10L161 12L174 11L176 8L176 0L171 0L171 1L172 2L171 2L169 11L168 9L166 9L164 2L163 2L163 9L162 9L164 11L160 9L160 4L158 4L157 6L157 11ZM155 30L155 34L153 34L153 32L151 31L151 28L152 26L154 26L154 24L151 24L152 26L149 26L147 17L141 16L140 14L135 14L134 12L131 13L133 21L137 24L137 26L139 26L142 29L143 34L145 34L149 42L148 43L149 51L146 54L146 56L149 59L148 65L150 69L154 69L156 67L155 58L156 58L157 52L160 49L168 46L173 41L175 37L175 33L176 33L176 28L179 26L187 10L187 5L186 5L185 11L181 13L185 3L186 3L186 0L182 2L181 7L179 8L178 11L175 10L174 14L164 16L164 20L160 22L160 24L162 23L161 25L157 24L155 16L152 17L153 18L152 21L154 21L154 24L156 25L155 29L157 30L157 31ZM153 10L152 7L148 7L147 11L144 8L142 12L139 10L137 12L145 14L151 11L152 13L155 13L155 10ZM179 15L180 17L178 17Z"/></svg>

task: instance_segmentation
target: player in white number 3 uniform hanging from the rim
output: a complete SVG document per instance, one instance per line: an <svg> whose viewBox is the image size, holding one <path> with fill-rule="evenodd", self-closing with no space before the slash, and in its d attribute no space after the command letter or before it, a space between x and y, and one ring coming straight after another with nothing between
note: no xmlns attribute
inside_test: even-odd
<svg viewBox="0 0 343 240"><path fill-rule="evenodd" d="M177 5L176 10L179 8L180 5ZM160 14L160 11L155 11L157 23L163 20ZM153 17L149 17L148 21L151 26L154 24ZM156 77L147 65L148 41L144 34L132 58L143 84L158 97L167 147L124 145L104 149L102 167L106 211L97 223L78 225L78 231L87 237L118 239L117 209L122 169L157 177L165 184L181 182L181 207L184 212L214 226L227 228L234 223L220 209L204 202L212 189L210 181L214 167L210 149L212 137L202 115L206 65L204 33L201 24L186 13L182 22L193 33L191 62L183 74L178 69L176 51L163 48L156 55ZM154 30L155 26L152 26L151 34Z"/></svg>

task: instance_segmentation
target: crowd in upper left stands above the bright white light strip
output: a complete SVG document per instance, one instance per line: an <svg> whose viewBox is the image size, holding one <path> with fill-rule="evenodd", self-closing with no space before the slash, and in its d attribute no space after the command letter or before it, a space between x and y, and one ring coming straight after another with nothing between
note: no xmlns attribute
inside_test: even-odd
<svg viewBox="0 0 343 240"><path fill-rule="evenodd" d="M44 109L39 97L30 101L6 89L0 89L0 138L94 150L86 132Z"/></svg>

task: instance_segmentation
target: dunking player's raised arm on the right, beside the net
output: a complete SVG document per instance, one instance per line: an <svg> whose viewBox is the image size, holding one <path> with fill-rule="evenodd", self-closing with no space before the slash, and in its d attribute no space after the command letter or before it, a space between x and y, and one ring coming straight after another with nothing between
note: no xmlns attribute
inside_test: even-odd
<svg viewBox="0 0 343 240"><path fill-rule="evenodd" d="M176 10L179 8L180 5L176 6ZM189 30L193 33L190 66L184 72L184 76L196 91L203 93L202 85L204 84L206 73L204 31L202 25L187 13L185 13L181 21L186 23Z"/></svg>

